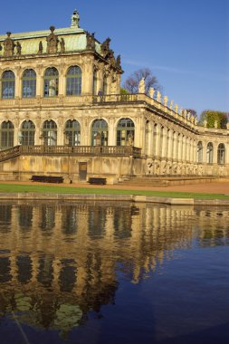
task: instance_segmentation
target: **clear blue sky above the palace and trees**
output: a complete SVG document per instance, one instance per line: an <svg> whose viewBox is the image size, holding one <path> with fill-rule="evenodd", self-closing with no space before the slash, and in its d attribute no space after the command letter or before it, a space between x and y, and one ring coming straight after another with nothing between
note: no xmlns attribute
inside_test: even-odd
<svg viewBox="0 0 229 344"><path fill-rule="evenodd" d="M229 0L11 0L0 33L80 25L121 55L124 74L152 70L163 93L183 108L229 111Z"/></svg>

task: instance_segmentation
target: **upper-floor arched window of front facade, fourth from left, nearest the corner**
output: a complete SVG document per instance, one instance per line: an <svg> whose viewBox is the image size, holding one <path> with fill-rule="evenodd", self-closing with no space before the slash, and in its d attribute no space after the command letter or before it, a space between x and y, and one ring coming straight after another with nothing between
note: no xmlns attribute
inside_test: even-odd
<svg viewBox="0 0 229 344"><path fill-rule="evenodd" d="M78 66L70 67L67 72L66 95L81 95L81 68Z"/></svg>

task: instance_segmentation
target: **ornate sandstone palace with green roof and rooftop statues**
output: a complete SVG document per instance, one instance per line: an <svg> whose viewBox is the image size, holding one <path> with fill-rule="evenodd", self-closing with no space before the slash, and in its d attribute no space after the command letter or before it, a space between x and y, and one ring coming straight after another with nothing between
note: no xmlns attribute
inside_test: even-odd
<svg viewBox="0 0 229 344"><path fill-rule="evenodd" d="M0 179L229 175L229 126L150 90L120 94L120 55L79 25L0 35Z"/></svg>

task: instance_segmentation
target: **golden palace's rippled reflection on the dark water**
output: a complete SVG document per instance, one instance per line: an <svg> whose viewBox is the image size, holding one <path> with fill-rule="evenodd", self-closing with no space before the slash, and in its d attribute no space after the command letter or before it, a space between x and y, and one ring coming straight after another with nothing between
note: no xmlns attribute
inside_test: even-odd
<svg viewBox="0 0 229 344"><path fill-rule="evenodd" d="M115 301L118 272L141 282L191 247L196 231L202 247L228 244L228 215L129 203L0 203L0 316L14 311L21 323L64 335Z"/></svg>

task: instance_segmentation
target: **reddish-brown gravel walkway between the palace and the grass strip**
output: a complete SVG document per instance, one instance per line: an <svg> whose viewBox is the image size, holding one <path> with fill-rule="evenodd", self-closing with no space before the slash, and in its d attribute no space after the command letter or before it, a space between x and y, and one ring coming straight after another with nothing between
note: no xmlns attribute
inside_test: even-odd
<svg viewBox="0 0 229 344"><path fill-rule="evenodd" d="M117 184L107 186L94 186L87 183L74 183L74 184L53 184L53 183L36 183L36 182L20 182L20 181L0 181L0 184L21 184L21 185L44 185L44 186L70 186L70 187L88 187L88 188L110 188L117 190L150 190L150 191L177 191L177 192L195 192L205 194L226 194L229 195L229 182L214 182L214 183L199 183L192 185L182 186L138 186Z"/></svg>

